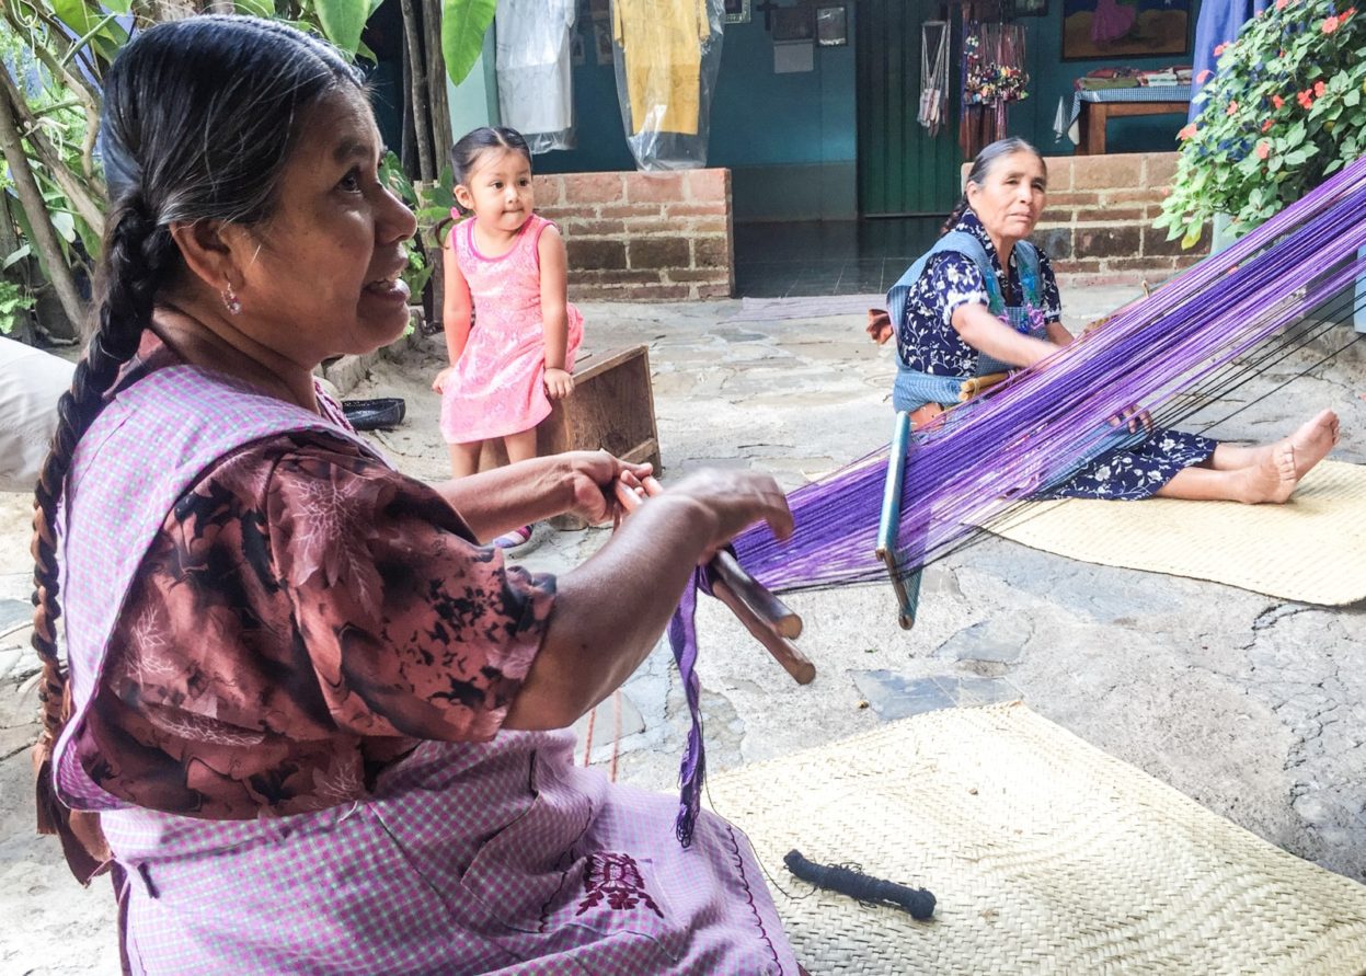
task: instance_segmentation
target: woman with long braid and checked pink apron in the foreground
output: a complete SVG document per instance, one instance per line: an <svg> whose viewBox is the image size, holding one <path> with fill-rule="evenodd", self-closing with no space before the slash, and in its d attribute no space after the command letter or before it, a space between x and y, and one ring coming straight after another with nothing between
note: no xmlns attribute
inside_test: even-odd
<svg viewBox="0 0 1366 976"><path fill-rule="evenodd" d="M560 579L505 565L478 541L611 517L649 465L429 487L318 394L408 319L415 224L358 74L202 16L141 31L104 94L97 329L37 490L37 759L40 824L112 867L126 964L796 972L743 835L703 814L683 849L678 799L574 767L566 728L699 560L791 532L773 480L699 472Z"/></svg>

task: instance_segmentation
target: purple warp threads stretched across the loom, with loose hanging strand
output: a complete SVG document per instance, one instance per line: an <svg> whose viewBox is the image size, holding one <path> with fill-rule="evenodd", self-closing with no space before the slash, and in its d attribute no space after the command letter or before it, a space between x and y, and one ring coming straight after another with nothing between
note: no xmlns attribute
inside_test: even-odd
<svg viewBox="0 0 1366 976"><path fill-rule="evenodd" d="M1171 426L1169 418L1194 411L1177 399L1183 390L1227 386L1235 373L1257 369L1254 348L1366 274L1363 247L1366 158L1228 250L1172 277L1104 329L1020 370L968 411L949 411L943 427L914 434L902 487L897 569L928 565L981 527L1008 517L1035 491L1065 480L1115 445L1106 420L1126 407L1142 404L1156 422ZM1244 359L1254 364L1235 363ZM963 423L968 414L971 423ZM766 526L750 527L732 543L742 565L775 592L885 579L885 564L873 553L887 465L882 448L792 491L792 538L780 543ZM695 602L690 587L669 627L693 714L680 774L678 833L684 845L705 769Z"/></svg>

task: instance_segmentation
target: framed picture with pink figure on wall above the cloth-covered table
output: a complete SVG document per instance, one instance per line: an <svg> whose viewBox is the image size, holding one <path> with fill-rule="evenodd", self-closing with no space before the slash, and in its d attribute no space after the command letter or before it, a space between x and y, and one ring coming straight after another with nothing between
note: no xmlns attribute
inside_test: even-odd
<svg viewBox="0 0 1366 976"><path fill-rule="evenodd" d="M1063 60L1190 52L1190 0L1061 0Z"/></svg>

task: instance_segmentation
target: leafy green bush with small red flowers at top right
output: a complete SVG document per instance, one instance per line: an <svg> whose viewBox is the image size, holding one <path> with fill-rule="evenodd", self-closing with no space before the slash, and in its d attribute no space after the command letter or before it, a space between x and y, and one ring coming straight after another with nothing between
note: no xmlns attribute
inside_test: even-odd
<svg viewBox="0 0 1366 976"><path fill-rule="evenodd" d="M1203 109L1157 227L1193 247L1216 213L1246 233L1366 149L1366 18L1352 0L1274 0L1214 49ZM1201 79L1203 81L1203 79Z"/></svg>

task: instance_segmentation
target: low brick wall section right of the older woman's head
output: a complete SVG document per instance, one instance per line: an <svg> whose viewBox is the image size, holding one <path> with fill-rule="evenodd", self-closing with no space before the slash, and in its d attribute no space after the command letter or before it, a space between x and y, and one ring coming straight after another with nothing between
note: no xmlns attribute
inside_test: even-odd
<svg viewBox="0 0 1366 976"><path fill-rule="evenodd" d="M1033 236L1070 287L1157 285L1209 254L1183 251L1153 221L1176 176L1176 153L1050 156L1048 207Z"/></svg>

